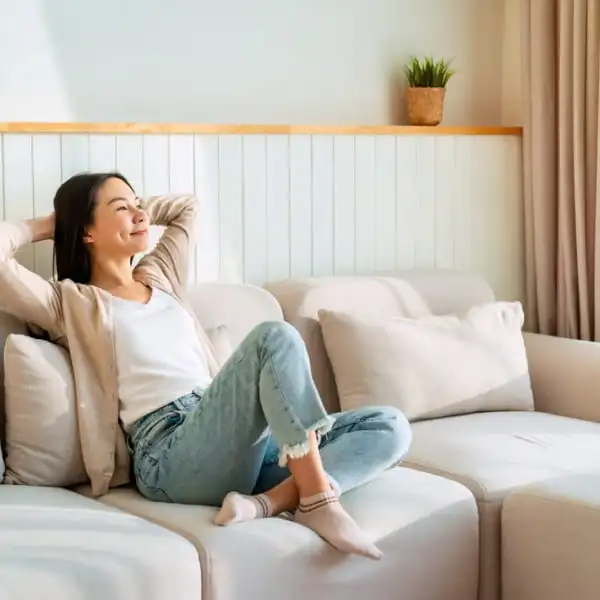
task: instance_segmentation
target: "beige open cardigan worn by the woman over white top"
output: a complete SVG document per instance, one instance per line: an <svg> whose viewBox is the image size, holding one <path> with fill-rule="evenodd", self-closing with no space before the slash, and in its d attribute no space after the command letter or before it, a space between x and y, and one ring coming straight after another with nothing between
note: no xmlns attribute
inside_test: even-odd
<svg viewBox="0 0 600 600"><path fill-rule="evenodd" d="M173 294L192 314L214 376L218 365L213 347L184 294L194 247L196 198L157 196L144 205L150 223L165 231L135 267L134 277ZM112 296L70 280L50 282L25 269L14 254L31 242L31 234L24 223L0 222L0 311L44 330L69 350L83 461L93 495L101 496L130 479L130 457L119 424Z"/></svg>

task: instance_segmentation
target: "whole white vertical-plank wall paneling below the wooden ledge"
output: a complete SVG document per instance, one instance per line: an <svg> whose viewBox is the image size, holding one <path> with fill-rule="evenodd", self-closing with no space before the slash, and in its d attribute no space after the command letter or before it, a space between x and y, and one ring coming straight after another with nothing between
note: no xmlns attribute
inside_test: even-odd
<svg viewBox="0 0 600 600"><path fill-rule="evenodd" d="M518 137L7 134L1 150L11 220L48 214L86 170L116 168L140 195L195 192L190 281L455 268L523 298ZM51 274L51 244L19 258Z"/></svg>

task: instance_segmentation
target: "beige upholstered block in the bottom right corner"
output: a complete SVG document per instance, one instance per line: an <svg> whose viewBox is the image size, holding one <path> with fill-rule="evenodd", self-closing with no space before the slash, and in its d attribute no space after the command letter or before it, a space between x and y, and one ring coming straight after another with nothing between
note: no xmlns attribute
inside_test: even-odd
<svg viewBox="0 0 600 600"><path fill-rule="evenodd" d="M502 509L502 592L510 600L600 597L600 473L513 492Z"/></svg>

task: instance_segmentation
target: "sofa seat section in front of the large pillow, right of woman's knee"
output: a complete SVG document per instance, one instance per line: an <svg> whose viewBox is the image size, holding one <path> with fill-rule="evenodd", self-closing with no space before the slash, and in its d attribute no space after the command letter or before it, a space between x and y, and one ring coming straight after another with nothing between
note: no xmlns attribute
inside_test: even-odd
<svg viewBox="0 0 600 600"><path fill-rule="evenodd" d="M467 486L480 512L482 600L500 589L500 510L512 490L600 473L600 424L540 412L495 412L413 424L405 466Z"/></svg>

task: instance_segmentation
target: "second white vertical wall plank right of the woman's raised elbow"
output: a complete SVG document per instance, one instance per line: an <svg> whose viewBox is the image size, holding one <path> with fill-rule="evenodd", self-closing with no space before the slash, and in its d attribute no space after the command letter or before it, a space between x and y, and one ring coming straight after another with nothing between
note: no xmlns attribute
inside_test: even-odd
<svg viewBox="0 0 600 600"><path fill-rule="evenodd" d="M242 137L219 136L219 276L241 281L244 275Z"/></svg>

